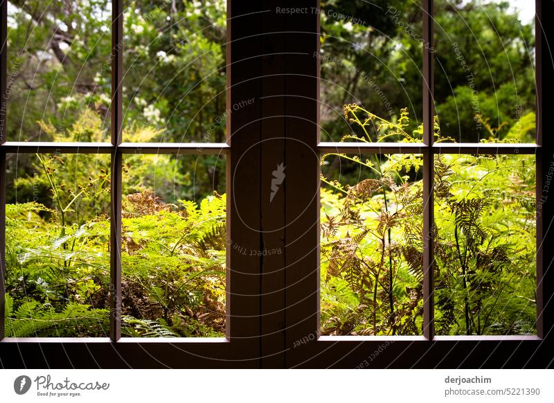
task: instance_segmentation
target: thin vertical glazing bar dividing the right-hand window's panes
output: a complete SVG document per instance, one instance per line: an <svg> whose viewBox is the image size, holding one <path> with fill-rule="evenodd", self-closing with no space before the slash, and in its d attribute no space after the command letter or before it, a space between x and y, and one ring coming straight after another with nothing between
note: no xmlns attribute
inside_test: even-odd
<svg viewBox="0 0 554 403"><path fill-rule="evenodd" d="M433 77L434 19L433 0L423 0L423 334L434 337L434 256L433 256Z"/></svg>

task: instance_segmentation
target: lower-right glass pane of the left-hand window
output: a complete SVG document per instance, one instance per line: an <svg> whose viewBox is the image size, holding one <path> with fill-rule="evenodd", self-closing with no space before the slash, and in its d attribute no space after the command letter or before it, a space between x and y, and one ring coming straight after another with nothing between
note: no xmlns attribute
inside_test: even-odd
<svg viewBox="0 0 554 403"><path fill-rule="evenodd" d="M224 157L125 155L123 166L123 335L224 337Z"/></svg>

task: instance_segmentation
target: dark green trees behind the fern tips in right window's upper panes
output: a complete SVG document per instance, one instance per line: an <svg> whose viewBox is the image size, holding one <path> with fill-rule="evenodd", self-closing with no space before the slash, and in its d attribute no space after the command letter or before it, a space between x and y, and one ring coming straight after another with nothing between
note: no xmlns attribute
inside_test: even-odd
<svg viewBox="0 0 554 403"><path fill-rule="evenodd" d="M476 114L500 127L498 139L535 110L534 24L508 1L435 0L434 104L445 136L488 138ZM387 120L408 105L410 132L422 120L423 13L412 0L321 1L321 125L324 141L359 127L340 106L356 100ZM506 125L502 125L505 123ZM392 139L391 139L392 140ZM526 142L535 141L529 132Z"/></svg>

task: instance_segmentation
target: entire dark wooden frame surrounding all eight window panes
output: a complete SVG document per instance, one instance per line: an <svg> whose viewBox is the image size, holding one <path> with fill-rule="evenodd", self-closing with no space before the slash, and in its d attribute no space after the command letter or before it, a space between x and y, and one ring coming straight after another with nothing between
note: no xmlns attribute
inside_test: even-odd
<svg viewBox="0 0 554 403"><path fill-rule="evenodd" d="M284 14L276 8L319 9L318 0L228 0L226 143L122 143L123 0L112 0L111 143L6 142L0 133L0 367L3 368L547 368L552 350L554 200L544 186L554 164L554 123L544 118L554 81L548 37L554 3L536 0L537 143L433 143L433 1L423 0L422 143L319 141L319 13ZM7 80L7 1L0 3L2 116ZM2 125L5 129L6 125ZM546 134L546 135L543 135ZM550 135L548 135L550 134ZM232 141L231 141L232 140ZM231 145L232 143L232 145ZM319 156L324 152L417 153L424 159L424 334L418 337L319 335ZM4 336L6 154L111 155L111 251L121 247L123 154L225 154L228 242L226 337L121 338L121 261L112 253L110 337L10 339ZM448 337L433 332L433 159L453 154L535 154L537 161L536 336ZM271 173L280 163L286 179L274 197ZM540 206L539 206L540 204ZM538 210L540 208L540 211ZM117 213L116 213L117 212ZM233 247L238 245L240 248ZM278 249L254 256L242 251ZM303 341L298 343L298 341Z"/></svg>

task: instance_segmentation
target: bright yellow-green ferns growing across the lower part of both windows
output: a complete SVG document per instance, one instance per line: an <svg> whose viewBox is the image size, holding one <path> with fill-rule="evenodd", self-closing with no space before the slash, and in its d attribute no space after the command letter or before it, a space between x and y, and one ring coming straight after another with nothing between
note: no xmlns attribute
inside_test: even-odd
<svg viewBox="0 0 554 403"><path fill-rule="evenodd" d="M416 142L422 136L422 126L406 132L406 109L393 121L357 105L346 105L345 115L363 134L343 141ZM86 129L79 122L71 129L75 136ZM505 141L521 141L533 129L532 114L523 116ZM434 136L452 141L440 133L438 120ZM33 195L38 183L46 194L6 206L7 334L107 337L109 161L35 157L33 177L17 179L15 188ZM141 172L163 171L169 158L130 164ZM363 176L322 177L321 331L420 334L422 156L362 160L331 153L323 156L323 169L337 159ZM443 154L434 167L436 331L535 332L534 156ZM129 177L121 250L123 334L222 336L226 196L214 192L198 204L172 204L149 188L148 174L142 181L141 174Z"/></svg>

